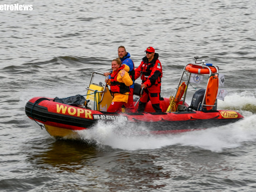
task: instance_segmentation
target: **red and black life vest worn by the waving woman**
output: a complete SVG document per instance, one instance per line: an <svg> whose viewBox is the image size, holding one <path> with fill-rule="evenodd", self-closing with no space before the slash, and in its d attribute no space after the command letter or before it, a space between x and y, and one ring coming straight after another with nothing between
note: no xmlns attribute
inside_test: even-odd
<svg viewBox="0 0 256 192"><path fill-rule="evenodd" d="M126 86L124 83L120 83L117 81L117 75L119 73L119 71L121 71L122 69L124 69L124 66L121 66L118 71L113 71L110 75L111 79L110 79L110 89L111 92L114 93L126 93L130 91L130 86Z"/></svg>

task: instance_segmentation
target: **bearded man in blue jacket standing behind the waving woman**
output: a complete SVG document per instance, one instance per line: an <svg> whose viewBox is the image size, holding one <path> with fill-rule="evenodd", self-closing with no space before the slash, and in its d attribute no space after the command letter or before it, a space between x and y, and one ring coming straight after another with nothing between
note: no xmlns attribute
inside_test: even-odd
<svg viewBox="0 0 256 192"><path fill-rule="evenodd" d="M122 64L129 66L130 70L128 73L133 81L133 84L130 86L128 102L127 102L127 104L125 104L126 112L135 112L135 107L133 105L133 89L134 89L134 81L135 81L134 63L130 59L130 57L131 57L130 53L126 52L124 46L118 47L118 57L121 59ZM112 71L104 73L104 76L110 75L111 72Z"/></svg>

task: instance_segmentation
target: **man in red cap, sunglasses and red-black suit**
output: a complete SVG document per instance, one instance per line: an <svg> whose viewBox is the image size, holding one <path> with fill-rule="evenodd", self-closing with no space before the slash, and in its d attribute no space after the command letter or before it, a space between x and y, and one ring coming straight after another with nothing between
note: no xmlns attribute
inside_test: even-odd
<svg viewBox="0 0 256 192"><path fill-rule="evenodd" d="M156 112L162 112L160 102L161 78L163 76L162 65L158 60L158 53L153 47L148 47L146 56L142 58L141 64L135 69L135 79L141 77L141 88L144 87L143 95L140 98L138 112L145 110L147 102L150 100Z"/></svg>

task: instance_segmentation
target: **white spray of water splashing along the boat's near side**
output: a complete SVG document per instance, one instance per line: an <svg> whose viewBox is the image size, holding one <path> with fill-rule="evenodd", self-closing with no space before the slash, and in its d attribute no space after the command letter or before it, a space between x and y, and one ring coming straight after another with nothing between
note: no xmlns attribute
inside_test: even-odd
<svg viewBox="0 0 256 192"><path fill-rule="evenodd" d="M238 147L242 142L255 141L256 115L225 126L179 134L153 135L143 125L132 123L99 122L90 130L79 131L81 138L96 141L98 146L114 149L141 150L156 149L171 145L200 147L220 152L225 148Z"/></svg>

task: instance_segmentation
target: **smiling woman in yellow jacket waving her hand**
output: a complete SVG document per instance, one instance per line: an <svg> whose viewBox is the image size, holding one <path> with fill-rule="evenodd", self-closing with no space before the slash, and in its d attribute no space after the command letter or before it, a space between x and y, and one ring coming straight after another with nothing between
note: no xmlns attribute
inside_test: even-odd
<svg viewBox="0 0 256 192"><path fill-rule="evenodd" d="M122 65L119 58L113 59L111 62L112 73L111 79L105 79L105 82L110 85L113 100L107 112L121 111L124 103L127 103L130 85L133 81L129 76L130 68L127 65Z"/></svg>

